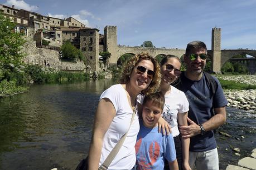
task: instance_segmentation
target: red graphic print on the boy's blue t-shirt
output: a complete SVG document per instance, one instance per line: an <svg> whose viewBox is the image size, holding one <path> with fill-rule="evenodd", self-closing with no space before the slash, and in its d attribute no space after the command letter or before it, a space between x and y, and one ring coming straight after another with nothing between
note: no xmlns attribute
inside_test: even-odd
<svg viewBox="0 0 256 170"><path fill-rule="evenodd" d="M157 142L152 141L149 148L141 148L142 138L140 138L135 145L136 155L138 155L139 159L137 159L138 170L146 170L152 169L154 163L156 163L157 159L160 156L160 146ZM149 159L147 159L147 152ZM137 157L137 158L138 158Z"/></svg>

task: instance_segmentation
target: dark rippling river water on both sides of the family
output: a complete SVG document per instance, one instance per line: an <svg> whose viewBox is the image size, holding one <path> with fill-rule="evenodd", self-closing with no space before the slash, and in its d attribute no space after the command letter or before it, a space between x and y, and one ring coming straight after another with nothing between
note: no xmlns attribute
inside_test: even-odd
<svg viewBox="0 0 256 170"><path fill-rule="evenodd" d="M28 93L0 99L0 169L75 169L89 150L99 96L112 84L35 84ZM218 131L232 137L216 132L220 169L256 148L256 115L230 107L227 112ZM240 157L233 147L241 149Z"/></svg>

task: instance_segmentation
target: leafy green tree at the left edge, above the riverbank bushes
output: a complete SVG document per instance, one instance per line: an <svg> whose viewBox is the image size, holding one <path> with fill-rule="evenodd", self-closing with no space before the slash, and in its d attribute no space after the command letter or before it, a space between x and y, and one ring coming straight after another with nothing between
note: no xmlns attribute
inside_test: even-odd
<svg viewBox="0 0 256 170"><path fill-rule="evenodd" d="M25 43L21 33L15 32L15 23L0 12L0 81L19 72L22 67L22 45Z"/></svg>

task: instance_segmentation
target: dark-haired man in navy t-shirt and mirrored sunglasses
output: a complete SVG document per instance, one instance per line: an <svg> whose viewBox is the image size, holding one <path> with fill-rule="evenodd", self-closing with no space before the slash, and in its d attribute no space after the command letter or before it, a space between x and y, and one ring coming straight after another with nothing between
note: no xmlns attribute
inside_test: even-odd
<svg viewBox="0 0 256 170"><path fill-rule="evenodd" d="M215 94L207 84L205 68L207 48L204 42L187 44L184 61L187 70L181 74L181 90L189 101L189 126L180 126L183 138L190 138L189 164L197 170L219 169L219 157L213 130L226 121L226 100L215 77Z"/></svg>

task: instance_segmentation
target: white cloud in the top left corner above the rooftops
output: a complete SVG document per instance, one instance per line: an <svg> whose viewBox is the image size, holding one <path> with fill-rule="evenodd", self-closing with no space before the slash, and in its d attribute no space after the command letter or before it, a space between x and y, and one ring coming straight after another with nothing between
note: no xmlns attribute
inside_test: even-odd
<svg viewBox="0 0 256 170"><path fill-rule="evenodd" d="M15 6L17 9L25 9L27 11L37 11L39 9L38 6L31 6L30 4L27 4L25 1L21 0L7 0L6 3L4 3L6 6Z"/></svg>

